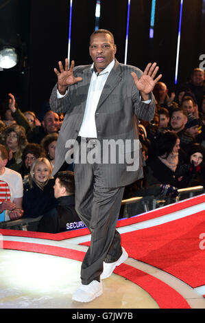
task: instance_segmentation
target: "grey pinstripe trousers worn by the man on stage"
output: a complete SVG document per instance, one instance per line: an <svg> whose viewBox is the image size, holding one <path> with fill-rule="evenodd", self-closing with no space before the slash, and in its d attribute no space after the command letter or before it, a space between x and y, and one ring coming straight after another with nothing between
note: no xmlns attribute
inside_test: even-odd
<svg viewBox="0 0 205 323"><path fill-rule="evenodd" d="M87 151L89 148L87 149ZM122 254L116 230L124 187L106 188L100 164L75 164L75 209L91 231L91 246L81 267L82 284L98 280L103 261L112 263Z"/></svg>

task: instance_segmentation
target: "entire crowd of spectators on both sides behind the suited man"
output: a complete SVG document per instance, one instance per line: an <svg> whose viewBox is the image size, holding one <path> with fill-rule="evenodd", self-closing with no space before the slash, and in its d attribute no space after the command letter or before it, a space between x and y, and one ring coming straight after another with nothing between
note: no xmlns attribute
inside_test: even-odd
<svg viewBox="0 0 205 323"><path fill-rule="evenodd" d="M144 178L127 186L124 197L153 192L175 197L179 188L205 185L204 79L204 71L196 68L176 93L169 93L163 82L156 84L154 118L138 120ZM38 229L52 233L84 226L75 212L73 165L64 163L52 177L63 118L62 113L48 110L40 122L34 111L21 111L12 93L3 102L0 221L41 215Z"/></svg>

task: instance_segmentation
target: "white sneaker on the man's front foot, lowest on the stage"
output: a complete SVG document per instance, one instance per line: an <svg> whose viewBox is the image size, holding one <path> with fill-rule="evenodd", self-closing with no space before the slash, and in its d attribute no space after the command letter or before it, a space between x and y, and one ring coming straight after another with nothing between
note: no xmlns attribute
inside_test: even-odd
<svg viewBox="0 0 205 323"><path fill-rule="evenodd" d="M77 302L91 302L103 293L102 283L93 280L88 285L81 285L73 294L72 300Z"/></svg>

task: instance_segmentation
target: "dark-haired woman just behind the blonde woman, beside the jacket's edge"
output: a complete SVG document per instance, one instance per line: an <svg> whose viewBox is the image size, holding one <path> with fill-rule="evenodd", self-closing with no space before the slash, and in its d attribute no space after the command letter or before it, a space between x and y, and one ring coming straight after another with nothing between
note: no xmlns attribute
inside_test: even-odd
<svg viewBox="0 0 205 323"><path fill-rule="evenodd" d="M47 159L49 159L52 168L55 164L56 142L58 140L58 133L49 133L41 141L41 146L45 149Z"/></svg>

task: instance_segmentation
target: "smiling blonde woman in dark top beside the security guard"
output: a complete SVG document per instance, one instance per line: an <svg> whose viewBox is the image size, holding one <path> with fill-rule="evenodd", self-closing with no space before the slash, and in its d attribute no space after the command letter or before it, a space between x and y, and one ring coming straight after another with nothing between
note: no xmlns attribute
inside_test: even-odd
<svg viewBox="0 0 205 323"><path fill-rule="evenodd" d="M56 207L53 185L49 160L45 157L34 160L28 181L23 186L24 217L36 218Z"/></svg>

